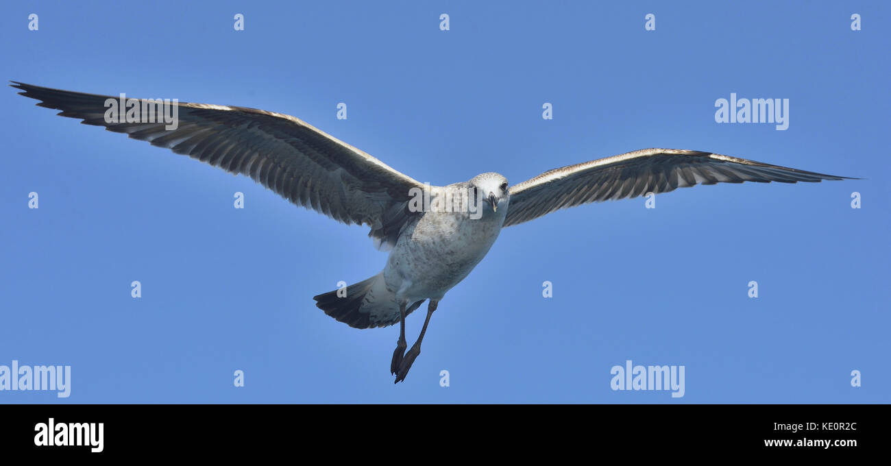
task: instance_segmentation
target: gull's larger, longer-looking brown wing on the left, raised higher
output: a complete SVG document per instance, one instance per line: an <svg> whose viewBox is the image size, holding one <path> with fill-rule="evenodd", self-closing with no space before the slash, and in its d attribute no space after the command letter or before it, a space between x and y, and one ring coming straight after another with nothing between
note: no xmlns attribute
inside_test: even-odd
<svg viewBox="0 0 891 466"><path fill-rule="evenodd" d="M379 246L392 245L413 215L407 208L409 190L423 189L423 184L379 159L290 115L172 102L177 105L176 128L166 129L164 122L109 123L105 102L118 97L12 82L11 86L23 91L19 94L41 101L37 103L41 107L61 110L62 117L82 119L86 125L126 133L230 173L250 176L294 204L340 222L369 225L369 236ZM151 101L140 102L143 108L142 102Z"/></svg>

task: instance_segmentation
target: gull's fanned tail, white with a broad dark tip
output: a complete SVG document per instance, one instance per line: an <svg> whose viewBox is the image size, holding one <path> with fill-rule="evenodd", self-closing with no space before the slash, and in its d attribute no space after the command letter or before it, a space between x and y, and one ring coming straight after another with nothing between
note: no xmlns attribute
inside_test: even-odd
<svg viewBox="0 0 891 466"><path fill-rule="evenodd" d="M388 290L383 273L368 280L313 297L315 306L339 322L356 329L386 327L399 322L396 294ZM405 315L421 306L421 299L405 309Z"/></svg>

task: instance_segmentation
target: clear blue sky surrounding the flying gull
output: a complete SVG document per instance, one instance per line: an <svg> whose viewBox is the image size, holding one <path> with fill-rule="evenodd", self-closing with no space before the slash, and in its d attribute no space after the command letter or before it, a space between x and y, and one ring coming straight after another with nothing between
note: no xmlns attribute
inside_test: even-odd
<svg viewBox="0 0 891 466"><path fill-rule="evenodd" d="M0 364L69 364L72 388L0 403L887 403L889 14L885 2L8 4L5 79L280 111L421 182L498 171L516 184L645 147L868 179L697 186L655 209L622 200L507 228L394 386L398 326L352 329L312 299L383 267L365 227L6 88ZM715 123L731 93L788 98L789 129ZM629 359L684 365L685 396L613 391L609 370Z"/></svg>

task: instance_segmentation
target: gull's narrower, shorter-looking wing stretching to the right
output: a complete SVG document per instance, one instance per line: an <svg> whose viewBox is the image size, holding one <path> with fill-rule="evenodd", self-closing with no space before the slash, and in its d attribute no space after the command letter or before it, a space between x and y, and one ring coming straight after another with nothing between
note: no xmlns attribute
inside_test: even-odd
<svg viewBox="0 0 891 466"><path fill-rule="evenodd" d="M560 208L634 198L648 192L669 192L694 184L797 183L846 178L709 152L643 149L555 168L513 185L504 226L521 224Z"/></svg>

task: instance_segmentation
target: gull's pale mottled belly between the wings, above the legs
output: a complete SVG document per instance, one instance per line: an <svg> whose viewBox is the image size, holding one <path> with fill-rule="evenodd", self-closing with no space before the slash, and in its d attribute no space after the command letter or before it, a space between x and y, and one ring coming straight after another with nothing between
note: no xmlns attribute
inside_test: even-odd
<svg viewBox="0 0 891 466"><path fill-rule="evenodd" d="M426 214L396 241L384 271L388 284L409 300L442 298L486 257L502 223L498 217Z"/></svg>

